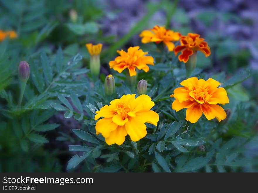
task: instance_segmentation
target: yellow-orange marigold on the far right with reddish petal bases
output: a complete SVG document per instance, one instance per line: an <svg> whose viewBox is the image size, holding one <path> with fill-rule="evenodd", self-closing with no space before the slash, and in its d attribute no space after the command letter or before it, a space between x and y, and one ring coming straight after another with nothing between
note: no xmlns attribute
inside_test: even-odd
<svg viewBox="0 0 258 193"><path fill-rule="evenodd" d="M227 117L224 109L217 104L229 103L227 92L224 88L218 86L220 82L209 78L207 81L196 77L188 78L180 83L184 87L174 89L176 100L172 103L172 109L179 111L186 110L186 120L195 123L202 114L208 120L221 120Z"/></svg>

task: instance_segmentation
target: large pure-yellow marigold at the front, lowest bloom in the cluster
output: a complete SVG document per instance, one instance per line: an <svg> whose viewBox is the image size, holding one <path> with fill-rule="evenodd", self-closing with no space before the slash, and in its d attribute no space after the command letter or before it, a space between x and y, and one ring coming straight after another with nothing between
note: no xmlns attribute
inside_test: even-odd
<svg viewBox="0 0 258 193"><path fill-rule="evenodd" d="M110 102L110 105L101 107L96 111L96 134L102 134L108 145L121 145L128 134L132 141L139 141L146 136L146 125L150 123L157 126L159 115L150 110L155 104L148 95L123 95L120 99Z"/></svg>

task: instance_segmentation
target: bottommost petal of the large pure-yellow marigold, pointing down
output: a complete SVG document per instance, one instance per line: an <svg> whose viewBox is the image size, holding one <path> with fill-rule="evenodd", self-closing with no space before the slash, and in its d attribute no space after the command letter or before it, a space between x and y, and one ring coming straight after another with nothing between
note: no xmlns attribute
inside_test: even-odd
<svg viewBox="0 0 258 193"><path fill-rule="evenodd" d="M118 144L122 145L125 141L125 136L127 132L125 126L118 126L116 130L110 132L109 136L105 138L105 141L108 145Z"/></svg>

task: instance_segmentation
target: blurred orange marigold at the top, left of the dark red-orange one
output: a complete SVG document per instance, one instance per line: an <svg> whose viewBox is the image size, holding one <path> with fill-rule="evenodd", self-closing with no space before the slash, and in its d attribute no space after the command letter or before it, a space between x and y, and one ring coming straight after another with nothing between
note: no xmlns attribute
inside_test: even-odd
<svg viewBox="0 0 258 193"><path fill-rule="evenodd" d="M178 41L181 34L179 32L174 32L172 30L167 30L164 26L155 25L154 28L149 30L143 30L140 33L142 37L142 43L146 44L149 42L155 42L156 44L163 42L168 50L173 51L175 45L173 41Z"/></svg>

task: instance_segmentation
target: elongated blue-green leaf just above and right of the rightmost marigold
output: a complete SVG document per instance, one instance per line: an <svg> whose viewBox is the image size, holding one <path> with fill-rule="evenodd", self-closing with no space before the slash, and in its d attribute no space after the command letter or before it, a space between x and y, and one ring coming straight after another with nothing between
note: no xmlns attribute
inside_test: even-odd
<svg viewBox="0 0 258 193"><path fill-rule="evenodd" d="M235 86L235 85L243 82L250 76L251 76L250 70L244 69L241 72L239 72L239 73L235 74L234 76L232 76L231 78L229 78L228 80L226 80L223 87L227 90L227 89L231 88L232 86Z"/></svg>

